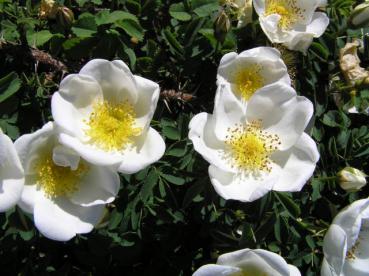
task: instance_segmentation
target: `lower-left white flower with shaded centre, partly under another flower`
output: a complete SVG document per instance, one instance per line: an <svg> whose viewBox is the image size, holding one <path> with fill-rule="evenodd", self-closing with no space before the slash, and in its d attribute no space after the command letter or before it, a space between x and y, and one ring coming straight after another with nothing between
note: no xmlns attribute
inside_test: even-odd
<svg viewBox="0 0 369 276"><path fill-rule="evenodd" d="M91 164L60 145L57 133L49 122L15 141L26 175L18 205L33 214L44 236L67 241L99 223L120 179L114 169Z"/></svg>

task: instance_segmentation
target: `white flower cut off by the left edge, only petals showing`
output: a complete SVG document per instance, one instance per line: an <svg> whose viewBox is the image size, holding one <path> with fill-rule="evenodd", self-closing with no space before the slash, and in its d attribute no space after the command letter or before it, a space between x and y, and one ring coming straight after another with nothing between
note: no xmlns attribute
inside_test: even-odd
<svg viewBox="0 0 369 276"><path fill-rule="evenodd" d="M0 212L17 204L23 190L24 171L13 142L0 128Z"/></svg>

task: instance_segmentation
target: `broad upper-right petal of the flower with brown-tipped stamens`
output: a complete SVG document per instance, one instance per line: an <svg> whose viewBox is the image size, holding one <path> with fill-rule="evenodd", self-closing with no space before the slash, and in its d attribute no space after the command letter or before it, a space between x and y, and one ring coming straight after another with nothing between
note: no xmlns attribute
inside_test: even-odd
<svg viewBox="0 0 369 276"><path fill-rule="evenodd" d="M259 90L248 104L247 120L262 120L265 131L277 134L286 150L301 137L311 116L313 104L305 97L296 97L292 87L275 83Z"/></svg>

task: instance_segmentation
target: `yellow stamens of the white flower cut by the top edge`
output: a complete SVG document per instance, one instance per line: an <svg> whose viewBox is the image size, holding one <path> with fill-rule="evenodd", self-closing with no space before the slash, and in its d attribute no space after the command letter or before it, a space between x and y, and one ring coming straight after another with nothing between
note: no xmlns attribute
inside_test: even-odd
<svg viewBox="0 0 369 276"><path fill-rule="evenodd" d="M266 0L265 16L279 14L279 27L290 29L293 24L304 18L304 10L296 5L296 0Z"/></svg>

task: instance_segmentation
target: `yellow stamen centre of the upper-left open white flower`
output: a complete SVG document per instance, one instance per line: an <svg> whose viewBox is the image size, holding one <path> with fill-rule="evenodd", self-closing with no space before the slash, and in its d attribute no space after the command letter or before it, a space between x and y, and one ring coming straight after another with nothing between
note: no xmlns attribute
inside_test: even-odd
<svg viewBox="0 0 369 276"><path fill-rule="evenodd" d="M87 122L85 131L90 143L103 150L123 150L132 144L132 136L141 133L135 127L136 113L133 106L124 101L112 104L108 101L97 102Z"/></svg>

